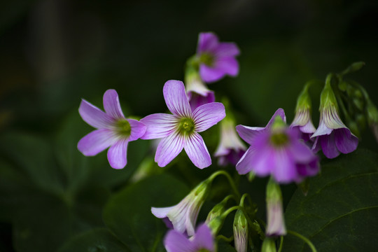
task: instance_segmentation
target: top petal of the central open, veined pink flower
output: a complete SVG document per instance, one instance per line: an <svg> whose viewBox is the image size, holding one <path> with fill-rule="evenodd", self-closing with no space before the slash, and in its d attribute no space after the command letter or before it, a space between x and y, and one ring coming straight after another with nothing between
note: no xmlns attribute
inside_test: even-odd
<svg viewBox="0 0 378 252"><path fill-rule="evenodd" d="M182 81L168 80L163 87L165 103L169 111L180 117L190 117L192 109L186 97L185 86Z"/></svg>

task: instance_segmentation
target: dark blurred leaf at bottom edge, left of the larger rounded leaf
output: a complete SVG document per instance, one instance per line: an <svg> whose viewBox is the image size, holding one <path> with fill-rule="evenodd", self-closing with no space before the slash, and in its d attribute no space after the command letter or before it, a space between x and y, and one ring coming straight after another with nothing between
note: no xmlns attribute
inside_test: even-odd
<svg viewBox="0 0 378 252"><path fill-rule="evenodd" d="M129 251L109 230L99 228L84 232L67 241L58 252L125 252Z"/></svg>

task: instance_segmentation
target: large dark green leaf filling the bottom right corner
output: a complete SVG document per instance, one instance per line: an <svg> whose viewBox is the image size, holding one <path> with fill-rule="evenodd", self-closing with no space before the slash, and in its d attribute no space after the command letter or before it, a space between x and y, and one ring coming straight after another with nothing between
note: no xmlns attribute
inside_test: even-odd
<svg viewBox="0 0 378 252"><path fill-rule="evenodd" d="M378 155L358 150L321 167L298 189L286 209L288 230L304 235L318 251L375 251L378 237ZM283 251L310 251L292 235Z"/></svg>

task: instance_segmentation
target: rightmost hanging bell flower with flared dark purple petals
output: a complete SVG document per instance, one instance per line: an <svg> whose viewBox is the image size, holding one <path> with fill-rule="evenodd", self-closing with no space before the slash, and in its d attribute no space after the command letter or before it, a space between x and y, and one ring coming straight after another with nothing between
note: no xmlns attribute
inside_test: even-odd
<svg viewBox="0 0 378 252"><path fill-rule="evenodd" d="M319 126L311 136L315 139L313 151L323 151L325 157L336 158L340 153L351 153L358 146L358 138L342 123L339 118L337 101L327 78L321 92L321 113Z"/></svg>

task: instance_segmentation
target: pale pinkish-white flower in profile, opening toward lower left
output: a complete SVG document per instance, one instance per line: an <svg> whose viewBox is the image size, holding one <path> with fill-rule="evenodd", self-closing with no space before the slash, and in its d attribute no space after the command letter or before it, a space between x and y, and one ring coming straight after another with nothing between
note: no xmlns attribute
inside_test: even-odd
<svg viewBox="0 0 378 252"><path fill-rule="evenodd" d="M205 180L194 188L179 204L173 207L151 207L154 216L162 218L166 225L172 226L177 232L190 236L195 233L195 222L198 213L206 200L211 181ZM172 225L170 225L172 223Z"/></svg>

